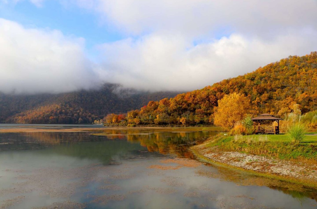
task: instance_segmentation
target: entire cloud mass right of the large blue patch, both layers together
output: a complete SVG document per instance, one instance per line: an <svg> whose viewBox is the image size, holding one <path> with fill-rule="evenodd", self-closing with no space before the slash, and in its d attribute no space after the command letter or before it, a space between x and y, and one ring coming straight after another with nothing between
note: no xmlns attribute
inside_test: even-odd
<svg viewBox="0 0 317 209"><path fill-rule="evenodd" d="M202 88L317 48L313 0L75 2L126 34L100 45L99 74L129 87Z"/></svg>

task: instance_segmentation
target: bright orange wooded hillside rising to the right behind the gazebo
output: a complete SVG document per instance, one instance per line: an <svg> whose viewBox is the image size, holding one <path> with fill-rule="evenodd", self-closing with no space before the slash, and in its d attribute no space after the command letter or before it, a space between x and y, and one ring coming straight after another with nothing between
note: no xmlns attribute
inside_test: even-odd
<svg viewBox="0 0 317 209"><path fill-rule="evenodd" d="M233 92L247 96L251 115L270 113L284 117L294 104L299 104L302 113L314 111L317 109L317 52L289 56L200 90L150 101L140 110L128 112L128 125L212 124L217 101ZM123 123L124 120L111 114L105 122Z"/></svg>

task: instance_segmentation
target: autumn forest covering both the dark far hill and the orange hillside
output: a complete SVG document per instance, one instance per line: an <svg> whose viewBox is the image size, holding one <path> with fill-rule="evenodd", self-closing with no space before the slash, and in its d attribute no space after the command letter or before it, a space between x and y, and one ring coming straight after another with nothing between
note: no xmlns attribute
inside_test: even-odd
<svg viewBox="0 0 317 209"><path fill-rule="evenodd" d="M180 94L120 91L114 84L100 90L58 95L0 94L0 123L210 125L214 123L218 100L234 92L244 96L252 116L270 113L284 117L294 104L301 113L314 115L317 52L289 56L252 73Z"/></svg>

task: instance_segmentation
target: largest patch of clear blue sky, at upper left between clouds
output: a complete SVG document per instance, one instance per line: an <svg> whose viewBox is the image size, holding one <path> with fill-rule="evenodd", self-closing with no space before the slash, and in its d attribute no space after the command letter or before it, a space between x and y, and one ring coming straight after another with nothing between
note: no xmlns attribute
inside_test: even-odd
<svg viewBox="0 0 317 209"><path fill-rule="evenodd" d="M96 44L117 41L124 36L100 22L98 16L79 7L64 7L50 0L41 7L29 1L1 4L0 17L19 22L26 27L50 28L65 35L84 37L88 49Z"/></svg>

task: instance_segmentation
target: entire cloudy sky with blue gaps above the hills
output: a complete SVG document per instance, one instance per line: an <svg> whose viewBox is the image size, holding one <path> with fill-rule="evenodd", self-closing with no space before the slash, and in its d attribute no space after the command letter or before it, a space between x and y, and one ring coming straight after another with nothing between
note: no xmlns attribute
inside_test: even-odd
<svg viewBox="0 0 317 209"><path fill-rule="evenodd" d="M191 91L317 50L317 0L0 0L0 92Z"/></svg>

